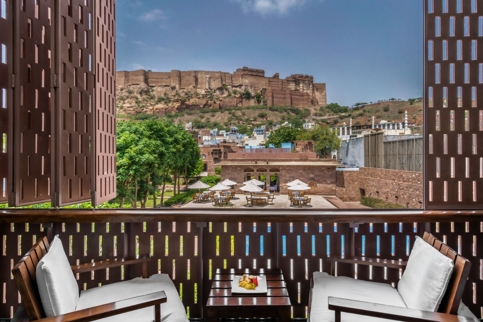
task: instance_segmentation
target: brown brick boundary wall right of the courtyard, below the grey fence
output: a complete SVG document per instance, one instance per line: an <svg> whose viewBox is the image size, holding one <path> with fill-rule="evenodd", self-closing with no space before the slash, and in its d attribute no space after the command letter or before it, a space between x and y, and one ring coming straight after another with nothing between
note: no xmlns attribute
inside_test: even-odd
<svg viewBox="0 0 483 322"><path fill-rule="evenodd" d="M423 201L423 173L380 168L336 171L336 196L339 199L359 201L360 189L365 189L366 196L407 208L421 208L419 201Z"/></svg>

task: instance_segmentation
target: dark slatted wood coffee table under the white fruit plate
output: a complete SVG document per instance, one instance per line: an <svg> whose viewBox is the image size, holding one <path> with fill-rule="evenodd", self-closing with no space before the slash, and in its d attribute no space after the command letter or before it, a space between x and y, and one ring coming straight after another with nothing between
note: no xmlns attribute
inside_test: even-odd
<svg viewBox="0 0 483 322"><path fill-rule="evenodd" d="M265 275L267 294L231 294L233 275ZM291 319L290 298L281 269L217 269L206 303L207 322L220 318L277 318Z"/></svg>

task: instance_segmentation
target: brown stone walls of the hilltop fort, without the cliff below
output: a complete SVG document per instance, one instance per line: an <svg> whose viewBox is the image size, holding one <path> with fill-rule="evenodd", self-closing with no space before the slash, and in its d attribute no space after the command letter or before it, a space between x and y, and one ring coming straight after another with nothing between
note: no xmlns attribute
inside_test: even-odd
<svg viewBox="0 0 483 322"><path fill-rule="evenodd" d="M243 67L233 73L207 70L171 70L169 72L134 70L116 72L117 86L147 85L170 87L173 90L200 89L222 91L228 87L249 87L252 91L265 94L266 91L282 91L269 94L275 105L327 105L326 84L313 83L313 76L294 74L281 79L278 73L265 77L264 70ZM272 97L274 96L274 97ZM229 104L228 104L229 103ZM247 102L230 101L223 105L247 106ZM250 104L253 104L252 102Z"/></svg>

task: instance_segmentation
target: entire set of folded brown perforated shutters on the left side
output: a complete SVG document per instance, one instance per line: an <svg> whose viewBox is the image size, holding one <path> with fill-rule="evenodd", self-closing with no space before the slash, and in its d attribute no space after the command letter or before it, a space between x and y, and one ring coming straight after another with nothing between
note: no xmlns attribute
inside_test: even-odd
<svg viewBox="0 0 483 322"><path fill-rule="evenodd" d="M114 198L114 0L0 4L0 203Z"/></svg>

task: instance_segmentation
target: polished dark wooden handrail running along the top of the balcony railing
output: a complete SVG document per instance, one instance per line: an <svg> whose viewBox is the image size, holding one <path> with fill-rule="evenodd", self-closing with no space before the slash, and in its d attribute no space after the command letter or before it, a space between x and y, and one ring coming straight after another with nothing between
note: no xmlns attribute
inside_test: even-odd
<svg viewBox="0 0 483 322"><path fill-rule="evenodd" d="M124 210L124 209L0 209L0 223L124 223L124 222L193 222L193 223L434 223L483 221L483 210L432 211L327 211L311 210L300 214L290 210L217 210L196 209ZM223 266L222 266L223 267ZM238 267L238 266L237 266ZM216 269L216 268L215 268Z"/></svg>

